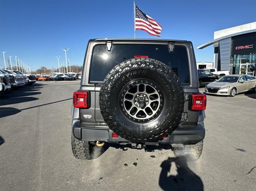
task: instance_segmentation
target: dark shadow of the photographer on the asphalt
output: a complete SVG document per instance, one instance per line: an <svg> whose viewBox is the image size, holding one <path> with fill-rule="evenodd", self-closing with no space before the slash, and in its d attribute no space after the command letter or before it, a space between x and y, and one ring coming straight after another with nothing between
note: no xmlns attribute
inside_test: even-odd
<svg viewBox="0 0 256 191"><path fill-rule="evenodd" d="M171 167L175 163L177 168L177 175L169 175ZM204 184L201 178L196 175L189 167L186 158L168 158L160 165L162 171L159 176L159 186L163 190L196 190L203 191Z"/></svg>

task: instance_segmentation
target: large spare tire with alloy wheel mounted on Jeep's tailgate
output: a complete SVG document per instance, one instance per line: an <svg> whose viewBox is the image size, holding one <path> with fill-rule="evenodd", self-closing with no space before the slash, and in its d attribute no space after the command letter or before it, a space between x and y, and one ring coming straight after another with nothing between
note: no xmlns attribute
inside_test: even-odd
<svg viewBox="0 0 256 191"><path fill-rule="evenodd" d="M184 91L172 69L150 58L116 65L100 89L100 112L109 128L131 142L171 134L184 110Z"/></svg>

